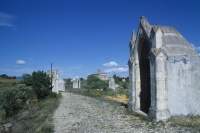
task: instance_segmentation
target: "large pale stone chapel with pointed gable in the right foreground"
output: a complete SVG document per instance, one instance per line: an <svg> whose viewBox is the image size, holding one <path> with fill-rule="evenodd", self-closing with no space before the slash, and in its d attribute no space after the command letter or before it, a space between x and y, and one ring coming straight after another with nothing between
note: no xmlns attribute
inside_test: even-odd
<svg viewBox="0 0 200 133"><path fill-rule="evenodd" d="M173 27L142 16L130 41L129 108L154 120L200 114L200 57Z"/></svg>

